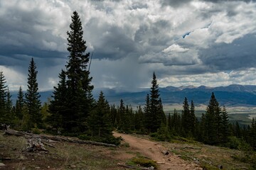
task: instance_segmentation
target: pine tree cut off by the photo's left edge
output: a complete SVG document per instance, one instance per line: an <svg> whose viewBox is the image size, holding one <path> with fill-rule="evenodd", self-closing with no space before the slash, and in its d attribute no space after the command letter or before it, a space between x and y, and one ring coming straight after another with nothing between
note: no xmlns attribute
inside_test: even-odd
<svg viewBox="0 0 256 170"><path fill-rule="evenodd" d="M6 79L0 72L0 123L6 123Z"/></svg>

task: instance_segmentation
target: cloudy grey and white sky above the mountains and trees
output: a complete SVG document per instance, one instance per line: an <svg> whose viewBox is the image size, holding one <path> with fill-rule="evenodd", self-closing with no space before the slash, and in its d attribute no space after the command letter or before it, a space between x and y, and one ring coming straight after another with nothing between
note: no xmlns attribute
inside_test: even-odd
<svg viewBox="0 0 256 170"><path fill-rule="evenodd" d="M39 91L68 62L77 11L92 54L95 88L256 85L256 1L0 1L0 71L10 90L27 87L33 57Z"/></svg>

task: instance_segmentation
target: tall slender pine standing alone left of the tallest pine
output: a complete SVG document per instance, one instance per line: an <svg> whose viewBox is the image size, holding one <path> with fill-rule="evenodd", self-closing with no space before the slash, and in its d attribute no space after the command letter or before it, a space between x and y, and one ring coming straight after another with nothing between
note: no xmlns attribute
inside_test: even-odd
<svg viewBox="0 0 256 170"><path fill-rule="evenodd" d="M36 63L33 58L31 59L31 63L28 67L28 89L26 92L26 106L28 109L28 128L42 126L42 115L41 115L41 101L40 94L38 93L38 83L36 80Z"/></svg>

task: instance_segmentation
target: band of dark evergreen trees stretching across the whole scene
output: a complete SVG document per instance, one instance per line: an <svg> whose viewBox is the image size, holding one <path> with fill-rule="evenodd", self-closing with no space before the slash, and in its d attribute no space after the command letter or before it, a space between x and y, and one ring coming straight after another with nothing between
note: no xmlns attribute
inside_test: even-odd
<svg viewBox="0 0 256 170"><path fill-rule="evenodd" d="M158 140L169 141L174 137L197 140L209 145L222 145L238 148L244 142L256 149L256 123L240 127L239 123L230 123L225 106L220 107L214 93L201 118L196 118L195 106L187 98L183 101L183 110L174 114L164 113L163 104L153 73L151 89L145 96L145 105L124 104L110 106L103 92L95 100L92 96L88 62L90 53L83 40L82 23L76 11L71 16L68 34L69 52L65 69L59 74L57 86L48 103L41 105L38 93L36 63L33 58L28 67L26 93L21 87L15 105L6 86L3 72L0 72L0 123L12 125L18 130L40 132L44 129L53 134L77 136L85 140L96 140L118 144L120 139L112 136L112 130L139 134L151 134Z"/></svg>

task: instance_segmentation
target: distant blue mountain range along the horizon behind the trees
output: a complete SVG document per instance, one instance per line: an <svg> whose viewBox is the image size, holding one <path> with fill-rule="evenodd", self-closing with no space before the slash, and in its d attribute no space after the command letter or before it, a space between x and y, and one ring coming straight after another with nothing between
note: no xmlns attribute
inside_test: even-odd
<svg viewBox="0 0 256 170"><path fill-rule="evenodd" d="M256 106L256 86L253 85L238 85L230 86L166 86L159 88L161 100L164 104L182 104L184 98L188 101L193 100L195 104L208 104L210 95L214 92L215 97L221 106ZM110 103L119 105L122 98L125 104L134 106L144 105L146 94L149 94L150 89L137 89L136 91L127 91L126 89L94 89L93 95L97 98L103 91L105 98ZM12 92L12 98L16 101L17 93ZM52 91L42 91L41 101L46 102L47 98L52 95Z"/></svg>

